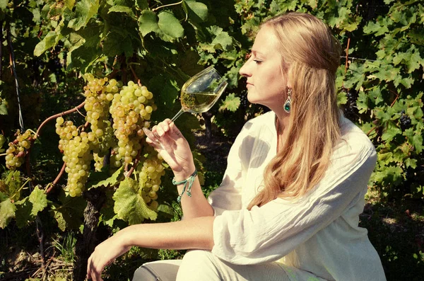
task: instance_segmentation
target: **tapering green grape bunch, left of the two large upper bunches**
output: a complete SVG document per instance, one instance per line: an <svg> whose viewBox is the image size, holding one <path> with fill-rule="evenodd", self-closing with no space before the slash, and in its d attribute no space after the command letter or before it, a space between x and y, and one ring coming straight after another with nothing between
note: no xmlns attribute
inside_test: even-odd
<svg viewBox="0 0 424 281"><path fill-rule="evenodd" d="M59 150L64 153L62 159L68 173L66 189L71 197L81 196L88 179L90 162L93 160L90 143L95 140L95 133L80 133L72 121L65 122L63 117L57 117L56 132L60 137Z"/></svg>

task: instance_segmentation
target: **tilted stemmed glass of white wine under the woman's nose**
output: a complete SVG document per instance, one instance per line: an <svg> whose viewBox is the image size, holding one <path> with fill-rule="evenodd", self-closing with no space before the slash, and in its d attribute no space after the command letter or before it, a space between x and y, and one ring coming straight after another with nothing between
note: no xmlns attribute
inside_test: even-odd
<svg viewBox="0 0 424 281"><path fill-rule="evenodd" d="M208 67L192 76L181 89L181 109L172 117L174 122L184 112L204 113L208 111L228 86L227 81L213 67ZM159 137L143 127L146 136L160 144Z"/></svg>

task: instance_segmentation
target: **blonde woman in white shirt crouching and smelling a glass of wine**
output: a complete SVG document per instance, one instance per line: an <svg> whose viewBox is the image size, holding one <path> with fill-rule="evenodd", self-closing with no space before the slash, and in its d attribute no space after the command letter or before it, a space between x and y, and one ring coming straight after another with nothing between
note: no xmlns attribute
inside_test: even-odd
<svg viewBox="0 0 424 281"><path fill-rule="evenodd" d="M144 265L134 280L151 273L184 281L385 280L367 230L358 227L376 153L337 108L339 57L314 16L287 13L263 23L240 74L248 100L271 111L237 136L220 188L206 199L177 127L170 120L153 127L163 147L148 142L175 174L184 219L119 231L95 249L88 277L101 280L105 265L142 246L196 250L182 261Z"/></svg>

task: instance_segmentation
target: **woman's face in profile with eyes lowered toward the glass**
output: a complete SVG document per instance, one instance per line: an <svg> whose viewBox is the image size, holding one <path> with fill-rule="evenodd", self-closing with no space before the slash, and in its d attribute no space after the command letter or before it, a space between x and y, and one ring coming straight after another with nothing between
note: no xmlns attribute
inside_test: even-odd
<svg viewBox="0 0 424 281"><path fill-rule="evenodd" d="M281 67L279 44L272 28L264 25L254 40L249 59L240 69L240 75L247 78L249 102L265 105L274 112L283 109L288 86Z"/></svg>

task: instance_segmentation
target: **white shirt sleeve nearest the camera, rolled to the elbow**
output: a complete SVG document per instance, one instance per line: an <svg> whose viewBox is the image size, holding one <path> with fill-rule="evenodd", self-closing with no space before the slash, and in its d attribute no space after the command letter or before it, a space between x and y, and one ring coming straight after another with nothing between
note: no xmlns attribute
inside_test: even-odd
<svg viewBox="0 0 424 281"><path fill-rule="evenodd" d="M250 211L225 211L216 217L212 253L240 265L282 258L363 197L375 161L369 140L342 141L324 178L302 200L277 198Z"/></svg>

